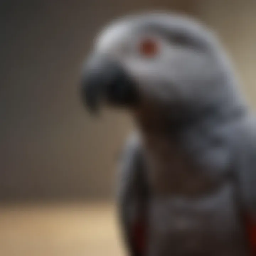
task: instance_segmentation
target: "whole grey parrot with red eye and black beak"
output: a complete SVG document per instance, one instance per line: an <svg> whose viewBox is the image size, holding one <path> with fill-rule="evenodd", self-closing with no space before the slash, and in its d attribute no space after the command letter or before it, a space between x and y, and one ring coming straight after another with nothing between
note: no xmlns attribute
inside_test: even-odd
<svg viewBox="0 0 256 256"><path fill-rule="evenodd" d="M84 103L124 108L137 126L118 178L129 255L256 255L256 125L238 84L193 18L130 15L97 37Z"/></svg>

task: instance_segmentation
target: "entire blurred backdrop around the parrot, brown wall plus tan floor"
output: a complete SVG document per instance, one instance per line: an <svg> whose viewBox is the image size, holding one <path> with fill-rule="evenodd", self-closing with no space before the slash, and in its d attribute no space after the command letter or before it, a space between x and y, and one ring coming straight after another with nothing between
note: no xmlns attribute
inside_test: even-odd
<svg viewBox="0 0 256 256"><path fill-rule="evenodd" d="M96 202L113 199L115 162L132 122L118 112L91 118L78 81L97 31L149 9L211 26L256 106L254 0L1 1L0 201L19 202L0 208L1 256L123 255L113 204ZM45 199L55 203L24 204Z"/></svg>

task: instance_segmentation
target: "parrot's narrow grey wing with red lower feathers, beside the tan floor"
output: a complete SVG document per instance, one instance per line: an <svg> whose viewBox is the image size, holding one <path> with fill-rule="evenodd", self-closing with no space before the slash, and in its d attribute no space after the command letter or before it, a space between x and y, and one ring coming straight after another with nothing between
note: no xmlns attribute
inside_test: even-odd
<svg viewBox="0 0 256 256"><path fill-rule="evenodd" d="M138 138L132 136L124 149L118 176L118 213L124 240L132 256L142 256L146 243L149 197L145 165Z"/></svg>

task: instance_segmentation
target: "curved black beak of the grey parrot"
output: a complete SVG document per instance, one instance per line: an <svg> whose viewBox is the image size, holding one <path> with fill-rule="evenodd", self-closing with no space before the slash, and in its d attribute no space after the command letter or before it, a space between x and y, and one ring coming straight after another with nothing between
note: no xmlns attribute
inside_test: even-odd
<svg viewBox="0 0 256 256"><path fill-rule="evenodd" d="M91 111L96 111L101 102L133 106L138 96L135 82L121 63L103 56L94 56L87 62L82 77L82 100Z"/></svg>

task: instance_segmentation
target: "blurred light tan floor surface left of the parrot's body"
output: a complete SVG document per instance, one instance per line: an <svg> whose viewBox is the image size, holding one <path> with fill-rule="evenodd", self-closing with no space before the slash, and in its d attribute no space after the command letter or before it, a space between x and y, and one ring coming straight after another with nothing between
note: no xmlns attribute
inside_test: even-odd
<svg viewBox="0 0 256 256"><path fill-rule="evenodd" d="M124 256L114 207L0 207L0 256Z"/></svg>

